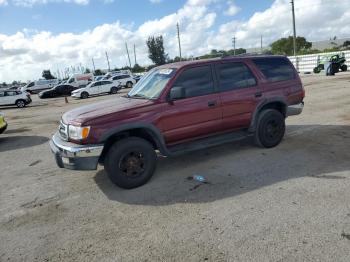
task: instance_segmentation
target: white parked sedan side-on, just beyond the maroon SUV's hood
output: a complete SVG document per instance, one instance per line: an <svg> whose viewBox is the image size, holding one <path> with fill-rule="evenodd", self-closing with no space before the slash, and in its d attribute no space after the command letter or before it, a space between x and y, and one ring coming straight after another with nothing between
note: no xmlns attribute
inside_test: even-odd
<svg viewBox="0 0 350 262"><path fill-rule="evenodd" d="M102 80L97 82L91 82L86 87L79 88L72 92L72 97L75 98L88 98L91 95L100 95L104 93L116 94L120 90L120 83Z"/></svg>

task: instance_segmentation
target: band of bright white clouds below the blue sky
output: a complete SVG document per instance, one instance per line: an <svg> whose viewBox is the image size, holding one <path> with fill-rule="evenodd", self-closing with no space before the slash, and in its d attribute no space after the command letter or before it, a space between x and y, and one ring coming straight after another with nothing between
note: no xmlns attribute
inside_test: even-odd
<svg viewBox="0 0 350 262"><path fill-rule="evenodd" d="M0 0L1 1L1 0ZM128 64L125 42L135 43L140 64L150 64L145 41L150 35L163 35L165 50L170 57L178 55L176 23L180 24L182 53L201 55L211 49L231 48L235 35L237 47L257 47L260 35L265 44L292 34L289 1L275 0L270 8L256 12L249 19L217 24L217 12L212 8L217 0L188 0L177 12L146 21L137 28L120 22L103 24L80 34L38 32L24 29L13 35L0 34L0 82L37 79L43 69L74 66L81 63L107 68L105 51L112 66ZM322 0L296 3L297 34L308 40L348 37L350 32L350 3L337 4ZM216 11L213 11L216 10ZM319 14L322 14L320 16ZM131 59L133 61L133 59Z"/></svg>

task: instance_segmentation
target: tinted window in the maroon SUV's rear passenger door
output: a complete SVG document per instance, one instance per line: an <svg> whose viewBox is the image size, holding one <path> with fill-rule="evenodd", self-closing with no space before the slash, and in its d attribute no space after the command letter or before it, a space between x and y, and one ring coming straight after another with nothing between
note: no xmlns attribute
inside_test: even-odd
<svg viewBox="0 0 350 262"><path fill-rule="evenodd" d="M217 72L222 92L256 85L253 73L243 63L219 64Z"/></svg>

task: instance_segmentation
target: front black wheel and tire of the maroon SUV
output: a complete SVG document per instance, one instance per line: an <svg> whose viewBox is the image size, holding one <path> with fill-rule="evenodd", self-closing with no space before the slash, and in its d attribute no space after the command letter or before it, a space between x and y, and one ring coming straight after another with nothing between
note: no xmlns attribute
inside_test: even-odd
<svg viewBox="0 0 350 262"><path fill-rule="evenodd" d="M150 180L156 163L157 155L153 146L142 138L130 137L112 145L104 165L114 184L132 189Z"/></svg>

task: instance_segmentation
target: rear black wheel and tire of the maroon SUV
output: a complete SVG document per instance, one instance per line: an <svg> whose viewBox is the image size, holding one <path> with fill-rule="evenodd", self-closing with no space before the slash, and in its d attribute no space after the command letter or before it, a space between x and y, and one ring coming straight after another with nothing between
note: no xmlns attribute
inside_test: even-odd
<svg viewBox="0 0 350 262"><path fill-rule="evenodd" d="M267 109L259 114L255 143L260 147L271 148L277 146L286 131L284 116L277 110Z"/></svg>

